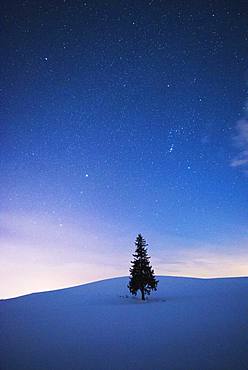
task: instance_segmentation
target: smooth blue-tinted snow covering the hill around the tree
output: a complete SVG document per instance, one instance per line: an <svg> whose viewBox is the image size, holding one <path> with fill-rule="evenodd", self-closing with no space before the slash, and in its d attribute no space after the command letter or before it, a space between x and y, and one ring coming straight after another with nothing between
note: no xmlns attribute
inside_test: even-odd
<svg viewBox="0 0 248 370"><path fill-rule="evenodd" d="M1 370L248 369L248 278L128 278L0 301Z"/></svg>

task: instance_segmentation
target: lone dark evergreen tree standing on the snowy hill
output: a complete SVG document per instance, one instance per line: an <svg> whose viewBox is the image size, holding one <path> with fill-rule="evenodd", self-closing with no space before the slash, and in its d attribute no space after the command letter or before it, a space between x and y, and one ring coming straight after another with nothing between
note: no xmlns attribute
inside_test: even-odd
<svg viewBox="0 0 248 370"><path fill-rule="evenodd" d="M131 261L130 281L128 288L131 294L136 295L141 291L141 299L145 300L145 294L150 294L151 290L157 290L158 280L154 275L154 270L150 266L147 254L147 244L145 239L139 234L135 241L136 251L133 254L134 260Z"/></svg>

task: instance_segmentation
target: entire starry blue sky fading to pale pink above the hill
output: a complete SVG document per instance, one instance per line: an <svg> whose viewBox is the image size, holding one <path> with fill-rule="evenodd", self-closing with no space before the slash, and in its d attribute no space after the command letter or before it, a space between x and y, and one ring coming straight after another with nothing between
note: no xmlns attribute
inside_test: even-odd
<svg viewBox="0 0 248 370"><path fill-rule="evenodd" d="M0 297L248 272L248 8L1 5Z"/></svg>

